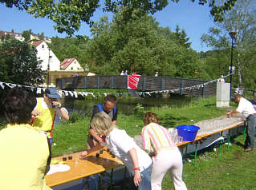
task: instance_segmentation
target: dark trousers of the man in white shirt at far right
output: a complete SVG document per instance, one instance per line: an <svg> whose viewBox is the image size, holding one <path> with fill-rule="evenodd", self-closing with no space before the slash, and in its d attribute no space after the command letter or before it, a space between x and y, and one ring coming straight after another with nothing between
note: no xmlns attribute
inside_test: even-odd
<svg viewBox="0 0 256 190"><path fill-rule="evenodd" d="M244 148L254 148L254 133L255 133L255 126L256 126L256 115L249 117L247 121L246 127L246 141Z"/></svg>

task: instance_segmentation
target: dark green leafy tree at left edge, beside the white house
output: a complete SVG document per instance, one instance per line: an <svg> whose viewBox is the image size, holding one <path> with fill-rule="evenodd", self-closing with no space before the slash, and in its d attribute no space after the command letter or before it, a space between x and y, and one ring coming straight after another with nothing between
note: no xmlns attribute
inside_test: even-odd
<svg viewBox="0 0 256 190"><path fill-rule="evenodd" d="M19 85L39 85L46 72L41 69L34 46L16 39L0 44L0 78Z"/></svg>

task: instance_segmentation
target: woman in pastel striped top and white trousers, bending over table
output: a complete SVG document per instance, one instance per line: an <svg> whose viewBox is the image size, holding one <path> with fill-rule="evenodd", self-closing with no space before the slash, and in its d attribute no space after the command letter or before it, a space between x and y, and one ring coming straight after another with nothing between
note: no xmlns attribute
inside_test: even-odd
<svg viewBox="0 0 256 190"><path fill-rule="evenodd" d="M144 115L142 129L143 148L150 151L151 144L155 155L153 157L151 187L152 190L161 190L161 183L170 172L176 190L185 190L182 180L182 156L177 145L171 139L168 130L159 125L156 113L148 112Z"/></svg>

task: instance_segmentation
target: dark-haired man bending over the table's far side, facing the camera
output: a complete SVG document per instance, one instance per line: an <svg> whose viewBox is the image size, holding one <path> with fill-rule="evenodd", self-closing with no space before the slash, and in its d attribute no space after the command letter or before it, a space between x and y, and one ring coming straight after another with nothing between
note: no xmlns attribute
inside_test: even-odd
<svg viewBox="0 0 256 190"><path fill-rule="evenodd" d="M111 118L112 123L116 125L117 120L117 106L116 106L116 96L113 94L108 94L104 98L103 104L98 104L93 107L91 119L95 116L96 113L104 112L107 113ZM94 147L96 144L101 143L103 141L102 137L100 137L97 133L95 133L94 129L91 129L89 126L89 133L87 137L87 149Z"/></svg>

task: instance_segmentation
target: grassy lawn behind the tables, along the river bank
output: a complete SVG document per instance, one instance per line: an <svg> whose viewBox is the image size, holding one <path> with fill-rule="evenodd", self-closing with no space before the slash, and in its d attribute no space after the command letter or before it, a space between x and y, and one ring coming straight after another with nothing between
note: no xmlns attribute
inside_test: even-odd
<svg viewBox="0 0 256 190"><path fill-rule="evenodd" d="M147 110L148 111L148 110ZM225 114L225 109L217 109L215 98L199 98L182 108L161 107L153 108L166 128L196 123L205 119L219 117ZM145 110L136 109L132 115L118 114L117 125L120 129L134 137L141 134L143 128L143 115ZM63 152L77 152L86 148L87 132L91 117L83 117L74 123L56 125L53 130L55 146L52 147L53 156L62 155ZM71 119L72 120L72 119Z"/></svg>

